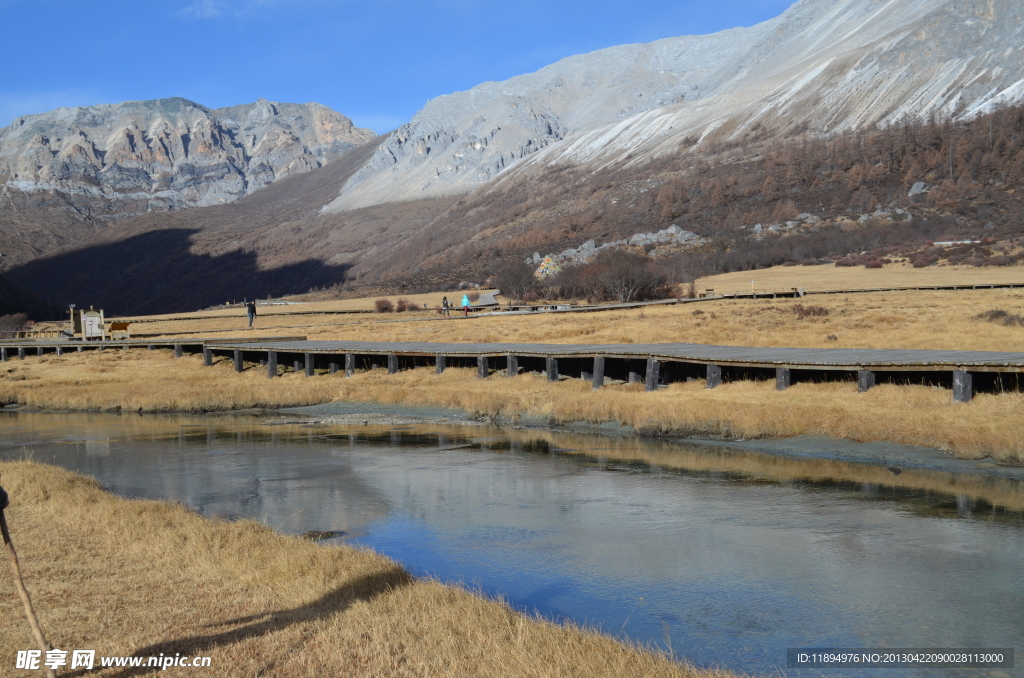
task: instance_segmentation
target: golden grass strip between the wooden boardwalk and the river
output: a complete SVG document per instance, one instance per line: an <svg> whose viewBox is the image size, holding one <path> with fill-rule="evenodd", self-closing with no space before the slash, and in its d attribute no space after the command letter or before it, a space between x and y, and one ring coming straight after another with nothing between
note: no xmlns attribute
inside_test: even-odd
<svg viewBox="0 0 1024 678"><path fill-rule="evenodd" d="M202 412L313 405L332 400L457 408L479 417L550 423L618 422L672 435L787 437L818 434L939 448L963 458L1024 461L1024 394L978 394L953 404L946 389L883 384L857 393L850 383L734 382L708 390L702 381L656 392L636 384L592 391L581 380L548 383L540 375L476 378L475 370L384 370L308 379L269 380L252 367L243 374L218 358L175 361L168 350L47 354L0 368L0 402L54 410Z"/></svg>

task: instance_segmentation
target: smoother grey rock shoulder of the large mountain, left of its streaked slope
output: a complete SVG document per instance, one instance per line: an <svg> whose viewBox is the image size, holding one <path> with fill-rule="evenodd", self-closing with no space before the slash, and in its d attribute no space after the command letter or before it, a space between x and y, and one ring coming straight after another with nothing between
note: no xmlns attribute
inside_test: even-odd
<svg viewBox="0 0 1024 678"><path fill-rule="evenodd" d="M637 113L699 98L709 74L767 27L569 56L536 73L431 99L327 211L468 193L531 154Z"/></svg>

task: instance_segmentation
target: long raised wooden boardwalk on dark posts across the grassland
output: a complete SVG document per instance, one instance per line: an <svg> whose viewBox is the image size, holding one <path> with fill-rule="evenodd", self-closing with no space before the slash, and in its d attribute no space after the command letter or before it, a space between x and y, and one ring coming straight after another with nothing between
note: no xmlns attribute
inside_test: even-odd
<svg viewBox="0 0 1024 678"><path fill-rule="evenodd" d="M229 355L239 372L259 364L267 376L291 369L312 377L344 371L472 367L480 378L521 372L546 374L548 380L579 378L595 389L609 383L638 382L647 390L676 381L705 380L708 388L723 381L775 379L784 390L799 381L855 381L867 390L879 382L924 383L951 388L953 398L970 400L976 390L1020 391L1024 353L867 348L782 348L707 344L511 344L308 341L305 337L247 339L169 338L160 340L0 341L0 361L30 355L104 349L173 348L176 357L202 353L204 365Z"/></svg>

